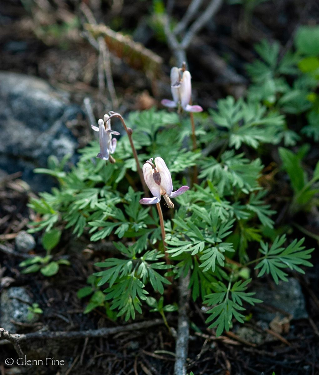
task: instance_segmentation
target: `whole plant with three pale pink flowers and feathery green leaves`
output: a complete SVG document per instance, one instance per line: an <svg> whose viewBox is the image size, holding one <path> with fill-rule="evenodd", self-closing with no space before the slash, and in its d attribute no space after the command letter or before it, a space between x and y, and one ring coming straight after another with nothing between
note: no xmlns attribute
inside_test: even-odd
<svg viewBox="0 0 319 375"><path fill-rule="evenodd" d="M125 121L109 112L93 126L100 145L79 150L71 171L54 156L48 169L36 170L59 187L31 200L41 220L30 231L63 228L91 242L113 240L115 255L97 263L100 271L79 291L91 296L87 312L103 306L110 318L129 320L150 306L165 319L176 309L176 280L189 273L192 299L209 308L207 323L220 335L234 320L244 322L249 304L261 302L249 291L252 269L278 284L287 270L312 266L304 239L274 228L258 157L269 144L288 146L298 137L264 93L258 100L229 96L201 113L189 104L185 66L172 69L171 84L173 100L162 104L178 111L153 108ZM126 130L117 142L116 118Z"/></svg>

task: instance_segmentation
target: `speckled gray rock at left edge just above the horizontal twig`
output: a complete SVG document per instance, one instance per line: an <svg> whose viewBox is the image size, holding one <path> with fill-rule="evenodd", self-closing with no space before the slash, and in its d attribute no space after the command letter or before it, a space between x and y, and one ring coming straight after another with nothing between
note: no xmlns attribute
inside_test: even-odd
<svg viewBox="0 0 319 375"><path fill-rule="evenodd" d="M20 323L28 321L28 306L32 303L30 296L24 287L11 287L4 289L0 299L0 327L10 333L16 333L17 327L10 322L14 320Z"/></svg>

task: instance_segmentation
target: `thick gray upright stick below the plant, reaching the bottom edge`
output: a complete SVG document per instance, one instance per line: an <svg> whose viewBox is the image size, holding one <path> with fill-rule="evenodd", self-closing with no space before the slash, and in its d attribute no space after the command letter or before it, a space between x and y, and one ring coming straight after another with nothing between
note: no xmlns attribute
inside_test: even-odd
<svg viewBox="0 0 319 375"><path fill-rule="evenodd" d="M183 275L180 277L180 300L178 307L178 327L177 327L177 339L176 339L176 360L174 365L174 375L186 375L186 359L188 352L188 340L189 340L189 321L187 311L189 308L189 280L190 273L188 272L186 277Z"/></svg>

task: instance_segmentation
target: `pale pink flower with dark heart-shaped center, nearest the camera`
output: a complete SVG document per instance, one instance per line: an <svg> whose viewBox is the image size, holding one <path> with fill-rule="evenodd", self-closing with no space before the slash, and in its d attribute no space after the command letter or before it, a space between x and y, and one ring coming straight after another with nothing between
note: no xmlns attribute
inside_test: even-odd
<svg viewBox="0 0 319 375"><path fill-rule="evenodd" d="M168 207L174 208L174 204L169 198L175 198L175 196L183 194L189 187L181 186L178 190L173 191L171 173L165 161L161 157L156 157L154 163L152 161L153 157L143 165L143 176L154 197L142 198L139 202L141 204L158 203L161 195L163 195Z"/></svg>

